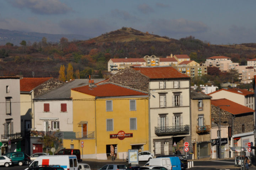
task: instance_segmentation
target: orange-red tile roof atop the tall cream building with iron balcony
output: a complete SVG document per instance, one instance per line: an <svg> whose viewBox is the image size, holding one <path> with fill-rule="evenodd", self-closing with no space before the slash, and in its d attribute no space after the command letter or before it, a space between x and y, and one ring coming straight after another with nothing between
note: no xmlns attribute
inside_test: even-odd
<svg viewBox="0 0 256 170"><path fill-rule="evenodd" d="M134 67L132 68L144 74L150 79L175 79L175 78L190 78L186 74L180 73L173 67Z"/></svg>

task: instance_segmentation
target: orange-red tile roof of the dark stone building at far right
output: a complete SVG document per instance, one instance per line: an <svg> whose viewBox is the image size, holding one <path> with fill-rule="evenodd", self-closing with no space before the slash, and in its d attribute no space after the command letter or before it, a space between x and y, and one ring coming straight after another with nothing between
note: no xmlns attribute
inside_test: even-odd
<svg viewBox="0 0 256 170"><path fill-rule="evenodd" d="M243 106L241 104L232 102L226 98L212 100L211 103L214 106L219 106L219 108L221 108L225 111L228 111L234 115L254 112L254 109L251 109L251 108ZM222 106L222 105L229 105L229 106Z"/></svg>

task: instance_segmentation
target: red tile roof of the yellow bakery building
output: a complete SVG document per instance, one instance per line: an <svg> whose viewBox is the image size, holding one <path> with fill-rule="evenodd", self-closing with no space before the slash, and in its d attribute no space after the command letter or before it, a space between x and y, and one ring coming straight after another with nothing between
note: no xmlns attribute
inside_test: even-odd
<svg viewBox="0 0 256 170"><path fill-rule="evenodd" d="M133 90L121 85L112 83L100 84L96 87L82 86L71 89L84 94L97 96L97 97L113 97L113 96L144 96L148 95L144 92Z"/></svg>

